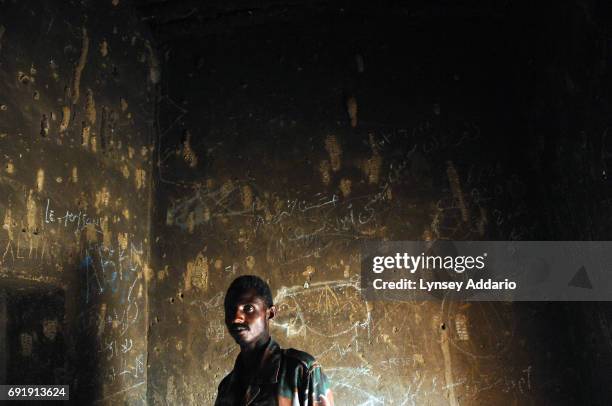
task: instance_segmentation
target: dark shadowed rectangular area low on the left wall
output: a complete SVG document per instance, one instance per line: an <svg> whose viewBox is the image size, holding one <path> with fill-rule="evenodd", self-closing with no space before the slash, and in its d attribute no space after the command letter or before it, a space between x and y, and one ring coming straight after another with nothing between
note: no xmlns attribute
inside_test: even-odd
<svg viewBox="0 0 612 406"><path fill-rule="evenodd" d="M71 403L95 399L99 357L83 329L91 318L71 325L71 306L57 286L0 281L0 384L69 385Z"/></svg>

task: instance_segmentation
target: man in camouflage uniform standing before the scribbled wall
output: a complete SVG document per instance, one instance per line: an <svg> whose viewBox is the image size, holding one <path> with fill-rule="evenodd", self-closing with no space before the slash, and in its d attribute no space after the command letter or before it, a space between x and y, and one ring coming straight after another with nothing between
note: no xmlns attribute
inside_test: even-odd
<svg viewBox="0 0 612 406"><path fill-rule="evenodd" d="M219 384L215 406L333 406L327 377L302 351L281 349L270 337L276 315L261 278L236 278L225 294L225 325L240 346L234 369Z"/></svg>

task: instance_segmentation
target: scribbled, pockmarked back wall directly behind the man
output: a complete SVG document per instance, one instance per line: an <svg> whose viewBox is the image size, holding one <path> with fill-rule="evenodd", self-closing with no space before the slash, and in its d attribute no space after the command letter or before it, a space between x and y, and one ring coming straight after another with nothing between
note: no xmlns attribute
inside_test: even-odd
<svg viewBox="0 0 612 406"><path fill-rule="evenodd" d="M611 347L595 316L585 337L604 337L598 343L572 331L586 324L580 307L360 296L364 240L582 237L542 199L587 202L563 171L592 190L601 178L555 149L557 139L576 145L581 124L560 135L568 111L544 117L540 106L588 100L554 72L572 58L601 62L601 53L563 59L574 37L558 34L575 8L555 9L556 23L545 25L542 10L497 11L408 21L338 11L166 44L151 404L212 404L238 353L223 295L246 273L270 282L274 337L319 359L338 404L595 399L587 349ZM596 32L585 19L570 18L582 38L574 53ZM585 131L597 140L604 129ZM597 156L600 144L589 145Z"/></svg>

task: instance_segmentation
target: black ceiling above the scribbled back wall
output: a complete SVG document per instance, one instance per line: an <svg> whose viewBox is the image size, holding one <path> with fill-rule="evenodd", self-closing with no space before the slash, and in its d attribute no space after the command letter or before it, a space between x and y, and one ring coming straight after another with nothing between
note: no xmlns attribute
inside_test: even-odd
<svg viewBox="0 0 612 406"><path fill-rule="evenodd" d="M206 36L241 26L319 18L401 18L405 24L503 17L510 0L134 0L160 42Z"/></svg>

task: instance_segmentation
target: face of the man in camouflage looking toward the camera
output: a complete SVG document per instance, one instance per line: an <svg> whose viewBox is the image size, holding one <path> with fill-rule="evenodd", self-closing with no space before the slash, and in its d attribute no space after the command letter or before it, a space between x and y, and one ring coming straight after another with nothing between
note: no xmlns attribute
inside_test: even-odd
<svg viewBox="0 0 612 406"><path fill-rule="evenodd" d="M245 290L225 308L225 325L241 347L255 347L270 337L268 320L275 308L266 307L254 289Z"/></svg>

